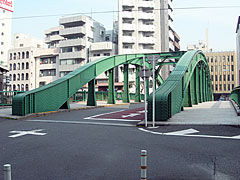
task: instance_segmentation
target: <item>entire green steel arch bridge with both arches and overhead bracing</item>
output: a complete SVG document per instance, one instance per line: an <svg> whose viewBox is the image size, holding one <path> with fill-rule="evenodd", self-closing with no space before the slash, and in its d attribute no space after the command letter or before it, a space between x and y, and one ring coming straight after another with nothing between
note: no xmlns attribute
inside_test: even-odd
<svg viewBox="0 0 240 180"><path fill-rule="evenodd" d="M147 57L158 55L161 62L155 67ZM166 62L174 59L174 62ZM135 101L140 102L140 77L138 72L143 61L149 69L156 69L156 121L166 121L174 114L191 107L193 104L212 101L213 92L210 72L205 55L201 51L168 52L151 54L126 54L106 57L92 61L68 75L40 88L18 94L13 99L12 114L24 116L32 113L68 109L68 100L88 83L87 105L96 106L95 78L105 71L109 72L108 103L115 104L114 79L115 68L124 66L123 102L129 103L129 65L136 67ZM174 70L163 81L160 76L161 67L175 64ZM149 89L149 80L146 82ZM149 94L147 92L147 94ZM152 94L148 96L148 119L152 119Z"/></svg>

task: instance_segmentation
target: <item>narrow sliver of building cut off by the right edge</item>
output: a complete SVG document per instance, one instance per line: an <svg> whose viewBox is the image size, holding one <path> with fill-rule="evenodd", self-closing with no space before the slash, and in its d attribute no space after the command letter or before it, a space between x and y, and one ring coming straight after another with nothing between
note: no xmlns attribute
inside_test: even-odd
<svg viewBox="0 0 240 180"><path fill-rule="evenodd" d="M240 16L236 28L236 49L237 49L237 85L240 85Z"/></svg>

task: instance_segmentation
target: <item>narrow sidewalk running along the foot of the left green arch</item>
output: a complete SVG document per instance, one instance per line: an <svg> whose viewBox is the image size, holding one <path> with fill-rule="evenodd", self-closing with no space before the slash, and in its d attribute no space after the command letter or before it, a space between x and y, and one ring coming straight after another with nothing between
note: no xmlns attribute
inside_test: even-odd
<svg viewBox="0 0 240 180"><path fill-rule="evenodd" d="M131 103L134 103L131 101ZM94 109L94 108L100 108L100 107L119 107L119 106L126 106L129 105L129 103L123 103L122 101L116 101L116 104L107 104L106 101L97 101L97 106L87 106L87 102L76 102L76 103L70 103L70 109L60 109L57 111L49 111L49 112L41 112L41 113L35 113L35 114L28 114L26 116L15 116L12 115L12 107L4 107L0 108L0 117L6 118L6 119L25 119L28 117L36 117L36 116L43 116L46 114L51 113L57 113L57 112L69 112L69 111L77 111L81 109Z"/></svg>

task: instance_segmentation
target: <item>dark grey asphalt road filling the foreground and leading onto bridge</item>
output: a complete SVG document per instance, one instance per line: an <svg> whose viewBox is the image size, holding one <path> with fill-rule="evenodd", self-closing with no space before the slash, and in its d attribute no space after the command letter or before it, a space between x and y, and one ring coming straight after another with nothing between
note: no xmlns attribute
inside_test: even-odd
<svg viewBox="0 0 240 180"><path fill-rule="evenodd" d="M139 106L142 104L130 109ZM28 119L38 121L0 120L0 165L12 165L12 180L133 180L140 179L140 151L146 149L151 180L240 179L239 139L152 134L135 127L135 121L84 119L128 108L97 108ZM149 131L168 133L190 128L201 135L240 135L236 126L161 126ZM36 129L47 134L8 137L14 135L11 131Z"/></svg>

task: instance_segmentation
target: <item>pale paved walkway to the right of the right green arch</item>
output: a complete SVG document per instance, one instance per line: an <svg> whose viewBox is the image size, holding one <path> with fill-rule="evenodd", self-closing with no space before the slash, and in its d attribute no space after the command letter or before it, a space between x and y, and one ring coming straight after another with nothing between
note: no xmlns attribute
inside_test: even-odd
<svg viewBox="0 0 240 180"><path fill-rule="evenodd" d="M186 107L161 124L240 125L240 117L230 101L211 101Z"/></svg>

